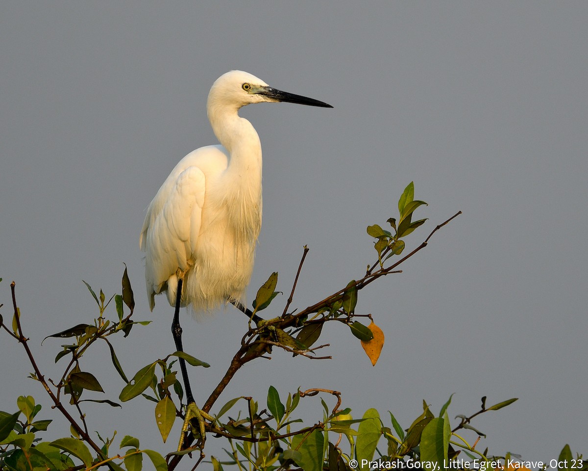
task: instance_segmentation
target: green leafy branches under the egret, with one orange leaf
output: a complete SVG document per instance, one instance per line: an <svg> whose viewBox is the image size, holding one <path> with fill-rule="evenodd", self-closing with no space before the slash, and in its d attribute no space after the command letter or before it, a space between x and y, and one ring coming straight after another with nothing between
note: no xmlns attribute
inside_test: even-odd
<svg viewBox="0 0 588 471"><path fill-rule="evenodd" d="M218 385L212 390L202 407L205 413L211 413L213 407L232 381L236 372L257 358L269 359L274 347L278 347L293 356L308 359L330 359L331 356L317 356L317 351L324 351L328 344L317 345L323 326L328 321L346 324L350 333L360 340L363 349L368 354L372 364L375 364L384 343L384 333L375 324L372 314L356 312L358 293L364 287L382 276L391 273L401 273L396 268L408 258L414 256L429 243L430 238L440 228L449 224L461 211L437 225L429 236L410 253L402 256L405 251L404 237L415 231L426 219L413 221L413 215L417 208L426 205L424 201L414 200L414 185L410 183L400 197L398 203L399 216L389 218L391 230L386 230L378 224L370 225L367 233L375 241L373 242L377 258L369 264L365 273L357 280L350 281L345 287L323 298L305 309L292 309L295 298L296 286L302 273L303 264L308 255L308 247L303 248L302 258L292 288L281 315L274 319L262 319L260 313L272 307L272 301L278 294L278 273L272 273L266 283L259 288L257 296L252 304L252 310L235 303L235 306L248 316L249 323L243 334L239 348L232 357L225 375ZM394 263L389 261L391 257L397 258ZM1 281L1 278L0 278ZM85 283L85 282L84 282ZM122 278L122 294L115 294L108 301L102 290L96 295L92 287L85 283L86 287L96 301L99 316L93 324L78 324L52 334L49 337L71 338L75 337L75 343L63 346L55 358L58 363L64 357L69 361L65 370L56 382L45 379L32 356L28 347L28 340L22 331L20 323L20 311L16 305L15 284L12 283L12 304L14 307L12 331L3 323L0 315L0 327L21 343L31 362L34 374L32 377L38 380L54 403L54 408L63 414L71 425L71 433L74 437L64 437L53 442L39 442L36 437L47 430L51 420L39 420L37 414L41 406L35 404L31 396L21 396L17 400L19 412L9 414L0 411L0 469L45 469L69 470L98 469L108 466L109 469L119 471L140 471L142 469L143 456L148 456L156 470L173 470L184 456L192 452L199 452L193 469L205 462L203 440L199 427L192 429L185 439L185 449L171 453L167 462L158 452L142 449L139 440L132 436L123 437L120 447L126 452L115 453L112 456L109 449L115 436L102 437L98 434L98 440L89 434L86 424L86 414L83 412L83 402L106 403L113 407L122 407L121 404L109 399L81 399L84 390L89 392L103 392L98 379L92 373L82 369L82 357L88 354L89 347L97 340L104 340L111 353L112 364L116 372L121 376L126 386L123 387L119 400L126 402L135 397L155 403L155 416L157 426L165 442L176 418L184 419L182 406L183 390L178 380L175 363L179 357L186 360L192 366L208 367L204 361L198 360L189 354L178 352L169 354L161 359L151 361L142 367L129 381L123 372L121 362L115 354L108 337L123 332L127 337L135 324L148 324L132 320L135 306L131 282L126 271ZM106 319L108 307L114 300L114 309L118 319L110 321ZM129 313L125 316L125 306ZM2 305L0 304L0 307ZM272 307L273 309L273 307ZM370 324L364 325L360 320L368 317ZM79 420L74 419L71 413L62 403L62 394L69 396L69 403L79 414ZM322 396L330 397L334 402L328 406ZM300 400L303 398L320 399L322 415L319 414L312 424L301 424L295 415ZM288 393L285 402L280 399L278 390L269 386L266 408L260 410L259 402L252 397L240 396L229 400L213 416L211 423L206 423L206 432L213 433L216 437L228 440L230 451L227 450L229 460L220 462L216 457L211 457L210 463L215 471L225 466L236 466L239 469L249 467L255 470L280 471L286 469L304 469L305 471L322 470L349 470L353 460L361 463L362 460L372 460L375 453L379 459L393 460L425 460L441 462L452 459L458 453L463 452L468 456L477 455L487 459L487 450L483 453L476 449L480 437L485 434L472 426L476 416L489 410L499 410L502 407L515 402L510 399L491 407L486 407L485 397L482 399L482 408L469 416L457 415L460 422L450 427L447 416L447 408L451 397L443 405L438 416L430 411L430 407L423 401L423 413L417 417L407 429L403 429L392 413L390 426L386 426L379 413L375 409L368 409L360 419L353 419L348 407L342 409L342 393L316 387L308 390L298 389L294 393ZM179 406L176 406L178 403ZM237 417L224 418L230 410L243 400L246 401L245 416L239 412ZM312 400L308 404L312 404ZM263 407L263 406L262 406ZM24 416L24 420L19 420ZM462 432L463 431L463 432ZM459 434L458 434L459 432ZM338 436L337 440L330 440L330 434ZM466 441L467 434L476 433L477 439L473 445ZM116 435L116 432L115 432ZM345 444L348 442L349 447ZM378 443L385 443L387 449L383 452L377 448ZM196 446L193 446L196 443ZM89 447L89 448L88 448ZM92 450L92 452L91 452ZM564 448L565 450L565 448ZM567 449L569 451L569 447ZM473 453L473 455L472 455ZM563 452L562 452L563 453ZM569 452L571 456L571 452ZM567 456L567 455L566 455ZM72 457L80 460L83 465L75 465ZM580 455L581 457L581 455ZM363 465L362 465L363 466ZM372 466L373 467L373 466Z"/></svg>

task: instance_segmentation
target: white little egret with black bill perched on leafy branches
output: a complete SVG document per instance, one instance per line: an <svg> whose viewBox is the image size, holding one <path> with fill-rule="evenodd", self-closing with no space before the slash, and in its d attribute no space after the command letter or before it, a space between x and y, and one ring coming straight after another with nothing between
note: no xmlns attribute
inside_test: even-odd
<svg viewBox="0 0 588 471"><path fill-rule="evenodd" d="M153 310L155 295L166 291L175 306L178 351L183 351L181 306L198 313L227 301L240 303L249 284L262 219L262 152L255 128L238 111L250 103L279 101L332 108L269 87L247 72L216 79L206 111L220 145L201 147L179 161L147 208L141 250L149 307ZM179 363L188 403L182 439L190 412L204 440L204 417L212 417L196 407L185 361Z"/></svg>

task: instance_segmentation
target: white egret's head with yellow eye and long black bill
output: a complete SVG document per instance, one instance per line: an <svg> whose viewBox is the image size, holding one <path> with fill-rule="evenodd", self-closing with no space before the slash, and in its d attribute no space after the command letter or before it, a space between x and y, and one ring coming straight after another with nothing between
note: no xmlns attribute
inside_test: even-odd
<svg viewBox="0 0 588 471"><path fill-rule="evenodd" d="M233 70L221 75L208 94L208 107L222 106L238 110L250 103L285 101L313 107L332 108L316 99L294 95L270 87L255 75Z"/></svg>

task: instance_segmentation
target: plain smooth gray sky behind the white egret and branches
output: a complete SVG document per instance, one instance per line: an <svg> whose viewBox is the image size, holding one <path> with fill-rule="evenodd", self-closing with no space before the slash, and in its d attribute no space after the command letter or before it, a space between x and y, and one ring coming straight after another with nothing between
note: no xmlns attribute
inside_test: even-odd
<svg viewBox="0 0 588 471"><path fill-rule="evenodd" d="M206 95L243 69L335 107L242 110L264 157L250 298L272 271L288 293L305 244L293 306L361 276L376 254L366 226L396 214L411 180L430 220L408 247L463 215L403 274L360 293L358 312L386 334L375 368L345 327L328 325L332 360L275 351L246 366L218 407L240 394L265 402L270 384L282 395L325 387L342 391L355 417L374 406L408 427L422 399L438 413L456 393L453 417L476 412L484 395L519 397L475 420L487 434L480 449L529 460L557 458L565 443L586 452L586 18L586 2L2 2L4 318L15 280L31 347L56 379L64 342L41 339L96 316L82 279L110 296L124 262L136 319L154 321L115 342L127 374L174 350L165 297L148 309L144 211L183 155L216 144ZM212 364L191 370L202 402L246 323L228 308L202 323L183 316L183 327L186 350ZM83 364L117 397L124 384L106 346L96 350ZM10 359L0 409L35 392L50 414L22 349L2 336L0 355ZM141 427L142 446L169 452L175 437L161 443L150 404L91 404L91 430ZM322 416L318 400L308 407Z"/></svg>

